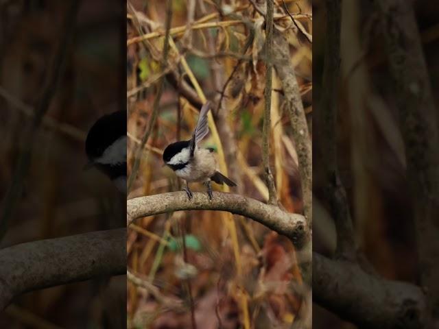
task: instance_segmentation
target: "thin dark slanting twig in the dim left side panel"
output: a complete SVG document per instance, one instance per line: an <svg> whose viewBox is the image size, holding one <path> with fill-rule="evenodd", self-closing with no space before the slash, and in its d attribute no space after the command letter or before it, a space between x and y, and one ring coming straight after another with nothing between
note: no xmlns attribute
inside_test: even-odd
<svg viewBox="0 0 439 329"><path fill-rule="evenodd" d="M60 43L56 49L54 62L51 65L51 71L47 74L46 84L43 88L43 93L36 104L35 115L32 124L25 133L23 138L23 150L17 160L16 168L12 177L12 182L3 198L0 217L0 241L3 239L8 230L8 222L14 215L14 211L18 204L21 191L23 189L23 180L29 171L29 166L32 158L32 151L34 149L34 141L39 130L40 124L43 121L45 113L49 110L51 100L57 90L58 81L64 73L64 62L67 57L67 51L73 41L73 32L76 27L76 19L78 10L80 8L80 0L72 0L69 10L67 10L66 18L62 29L60 29Z"/></svg>

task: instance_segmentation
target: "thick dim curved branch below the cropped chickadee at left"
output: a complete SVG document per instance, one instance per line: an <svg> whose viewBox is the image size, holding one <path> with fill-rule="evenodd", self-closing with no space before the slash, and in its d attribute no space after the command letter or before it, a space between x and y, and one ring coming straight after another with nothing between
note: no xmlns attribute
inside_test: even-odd
<svg viewBox="0 0 439 329"><path fill-rule="evenodd" d="M126 228L22 243L0 250L0 310L26 293L126 273Z"/></svg>

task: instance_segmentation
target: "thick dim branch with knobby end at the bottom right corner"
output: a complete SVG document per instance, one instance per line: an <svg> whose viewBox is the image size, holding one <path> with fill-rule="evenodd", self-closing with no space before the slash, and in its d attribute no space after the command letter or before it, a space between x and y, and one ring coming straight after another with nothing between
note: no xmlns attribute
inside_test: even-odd
<svg viewBox="0 0 439 329"><path fill-rule="evenodd" d="M414 284L372 276L313 253L313 301L360 328L425 328L425 295Z"/></svg>

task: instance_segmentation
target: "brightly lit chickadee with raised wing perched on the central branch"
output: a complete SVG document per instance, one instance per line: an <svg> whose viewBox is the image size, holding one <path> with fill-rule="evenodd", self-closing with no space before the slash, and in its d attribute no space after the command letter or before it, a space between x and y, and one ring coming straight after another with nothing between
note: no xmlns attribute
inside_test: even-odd
<svg viewBox="0 0 439 329"><path fill-rule="evenodd" d="M202 106L198 123L189 141L178 141L169 144L163 152L163 161L176 175L186 181L185 191L189 199L192 192L189 182L202 182L207 185L207 193L212 199L211 181L217 184L226 183L228 186L236 186L235 182L217 171L217 160L211 148L198 147L202 139L209 133L207 113L209 102Z"/></svg>

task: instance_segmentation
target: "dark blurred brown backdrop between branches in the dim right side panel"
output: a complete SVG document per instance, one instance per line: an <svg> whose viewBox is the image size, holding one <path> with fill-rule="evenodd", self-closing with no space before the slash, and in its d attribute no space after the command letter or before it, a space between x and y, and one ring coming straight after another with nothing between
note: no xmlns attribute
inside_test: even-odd
<svg viewBox="0 0 439 329"><path fill-rule="evenodd" d="M433 95L439 95L439 12L431 1L414 1ZM313 1L314 101L320 100L326 13ZM338 165L348 193L355 234L370 265L384 278L418 283L412 198L405 175L405 152L383 49L377 14L368 1L342 1L340 103L337 122ZM438 99L436 98L436 102ZM313 134L313 247L335 249L335 229L324 200L324 169L319 167L318 112ZM313 304L314 328L353 328Z"/></svg>

